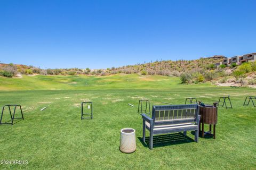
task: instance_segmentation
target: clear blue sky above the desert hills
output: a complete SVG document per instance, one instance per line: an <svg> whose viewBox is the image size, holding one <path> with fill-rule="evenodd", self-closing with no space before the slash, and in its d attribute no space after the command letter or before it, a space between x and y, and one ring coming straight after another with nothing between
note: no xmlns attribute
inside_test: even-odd
<svg viewBox="0 0 256 170"><path fill-rule="evenodd" d="M0 61L101 69L256 52L256 1L0 0Z"/></svg>

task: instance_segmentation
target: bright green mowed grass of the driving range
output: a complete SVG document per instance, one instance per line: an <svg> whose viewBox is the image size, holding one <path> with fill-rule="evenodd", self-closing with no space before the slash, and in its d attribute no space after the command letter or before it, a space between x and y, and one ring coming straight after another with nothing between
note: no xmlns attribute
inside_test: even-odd
<svg viewBox="0 0 256 170"><path fill-rule="evenodd" d="M21 104L25 116L13 126L0 126L0 160L28 160L28 165L0 165L0 169L256 167L256 107L243 106L245 96L256 96L256 89L184 85L179 78L130 74L0 78L0 90L0 106ZM228 94L234 108L219 107L217 139L199 138L196 143L194 133L187 133L189 138L167 135L169 138L158 141L153 150L141 142L139 99L165 105L161 102L184 104L186 97L196 97L212 104ZM82 101L93 102L93 120L81 121ZM136 130L133 154L123 154L118 148L120 130L127 127Z"/></svg>

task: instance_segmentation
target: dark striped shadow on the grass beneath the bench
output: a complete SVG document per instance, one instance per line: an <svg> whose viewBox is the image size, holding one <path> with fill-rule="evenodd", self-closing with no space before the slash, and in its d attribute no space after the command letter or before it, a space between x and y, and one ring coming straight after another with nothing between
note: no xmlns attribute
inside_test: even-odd
<svg viewBox="0 0 256 170"><path fill-rule="evenodd" d="M141 137L138 137L140 142L144 147L149 147L149 137L146 137L145 142ZM172 134L164 134L164 135L156 135L153 137L153 147L162 147L162 146L169 146L169 145L178 145L182 143L190 143L195 142L194 139L183 135L183 133L172 133Z"/></svg>

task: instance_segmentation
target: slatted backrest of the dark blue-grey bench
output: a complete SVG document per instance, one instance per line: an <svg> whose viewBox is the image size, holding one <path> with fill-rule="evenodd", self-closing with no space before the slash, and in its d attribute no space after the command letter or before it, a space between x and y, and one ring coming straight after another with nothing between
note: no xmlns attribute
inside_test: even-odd
<svg viewBox="0 0 256 170"><path fill-rule="evenodd" d="M155 121L174 121L182 122L195 118L198 106L195 105L167 105L167 106L153 106L152 118Z"/></svg>

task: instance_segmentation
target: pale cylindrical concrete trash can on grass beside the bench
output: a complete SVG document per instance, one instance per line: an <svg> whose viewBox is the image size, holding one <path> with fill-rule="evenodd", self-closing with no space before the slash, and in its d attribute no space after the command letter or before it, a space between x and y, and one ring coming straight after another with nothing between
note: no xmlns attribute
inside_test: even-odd
<svg viewBox="0 0 256 170"><path fill-rule="evenodd" d="M121 130L119 149L126 153L132 153L136 150L135 130L132 128L124 128Z"/></svg>

